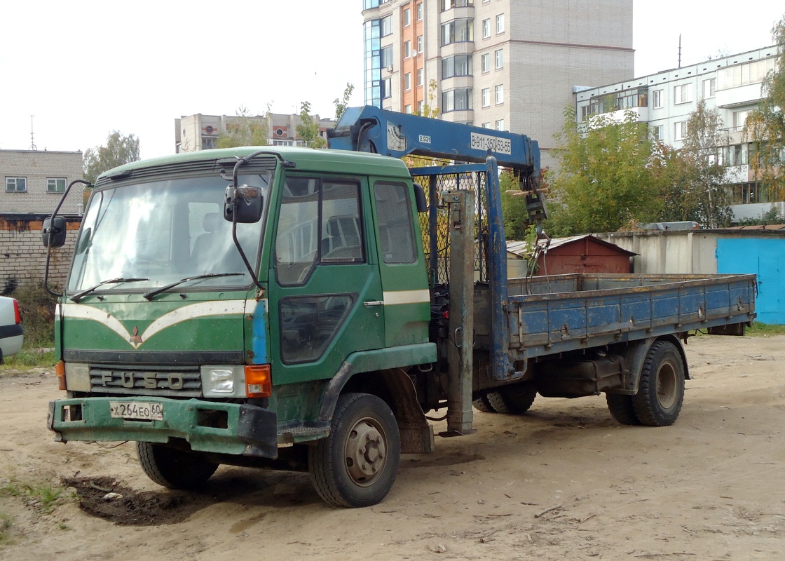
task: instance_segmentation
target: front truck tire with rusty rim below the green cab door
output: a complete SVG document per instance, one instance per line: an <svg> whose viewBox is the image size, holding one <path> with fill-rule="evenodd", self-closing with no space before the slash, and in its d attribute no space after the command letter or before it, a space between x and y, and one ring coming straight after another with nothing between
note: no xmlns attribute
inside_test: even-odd
<svg viewBox="0 0 785 561"><path fill-rule="evenodd" d="M311 481L319 497L339 507L369 507L392 489L400 463L395 416L371 394L338 398L330 436L309 447Z"/></svg>

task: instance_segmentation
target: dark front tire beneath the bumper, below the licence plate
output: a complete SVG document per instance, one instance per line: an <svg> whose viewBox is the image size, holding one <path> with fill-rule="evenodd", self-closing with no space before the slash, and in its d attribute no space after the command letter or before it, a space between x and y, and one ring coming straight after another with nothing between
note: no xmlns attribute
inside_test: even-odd
<svg viewBox="0 0 785 561"><path fill-rule="evenodd" d="M144 473L160 486L196 489L218 469L197 452L167 448L152 442L137 442L139 463Z"/></svg>

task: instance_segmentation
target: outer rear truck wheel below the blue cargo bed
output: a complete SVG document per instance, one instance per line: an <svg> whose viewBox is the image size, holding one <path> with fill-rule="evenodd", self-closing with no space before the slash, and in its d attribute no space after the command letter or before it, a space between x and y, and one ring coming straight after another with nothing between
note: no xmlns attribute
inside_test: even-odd
<svg viewBox="0 0 785 561"><path fill-rule="evenodd" d="M648 350L632 404L641 424L667 427L677 420L685 398L685 365L668 341L657 341Z"/></svg>

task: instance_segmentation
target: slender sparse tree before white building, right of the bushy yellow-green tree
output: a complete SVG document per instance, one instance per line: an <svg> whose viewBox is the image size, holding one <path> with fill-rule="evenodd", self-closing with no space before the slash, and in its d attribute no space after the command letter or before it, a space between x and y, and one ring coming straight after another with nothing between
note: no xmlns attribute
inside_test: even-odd
<svg viewBox="0 0 785 561"><path fill-rule="evenodd" d="M680 151L666 158L670 184L666 187L660 218L664 221L694 220L705 228L729 226L732 211L721 165L722 119L717 109L700 100L687 120Z"/></svg>

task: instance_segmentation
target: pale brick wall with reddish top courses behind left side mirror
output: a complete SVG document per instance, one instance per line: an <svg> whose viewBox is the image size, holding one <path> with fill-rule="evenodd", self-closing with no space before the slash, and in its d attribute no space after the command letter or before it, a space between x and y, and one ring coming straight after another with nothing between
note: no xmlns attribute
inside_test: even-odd
<svg viewBox="0 0 785 561"><path fill-rule="evenodd" d="M43 280L46 248L41 243L45 214L0 214L0 293ZM68 232L62 248L52 250L49 285L62 288L71 264L80 218L66 219Z"/></svg>

